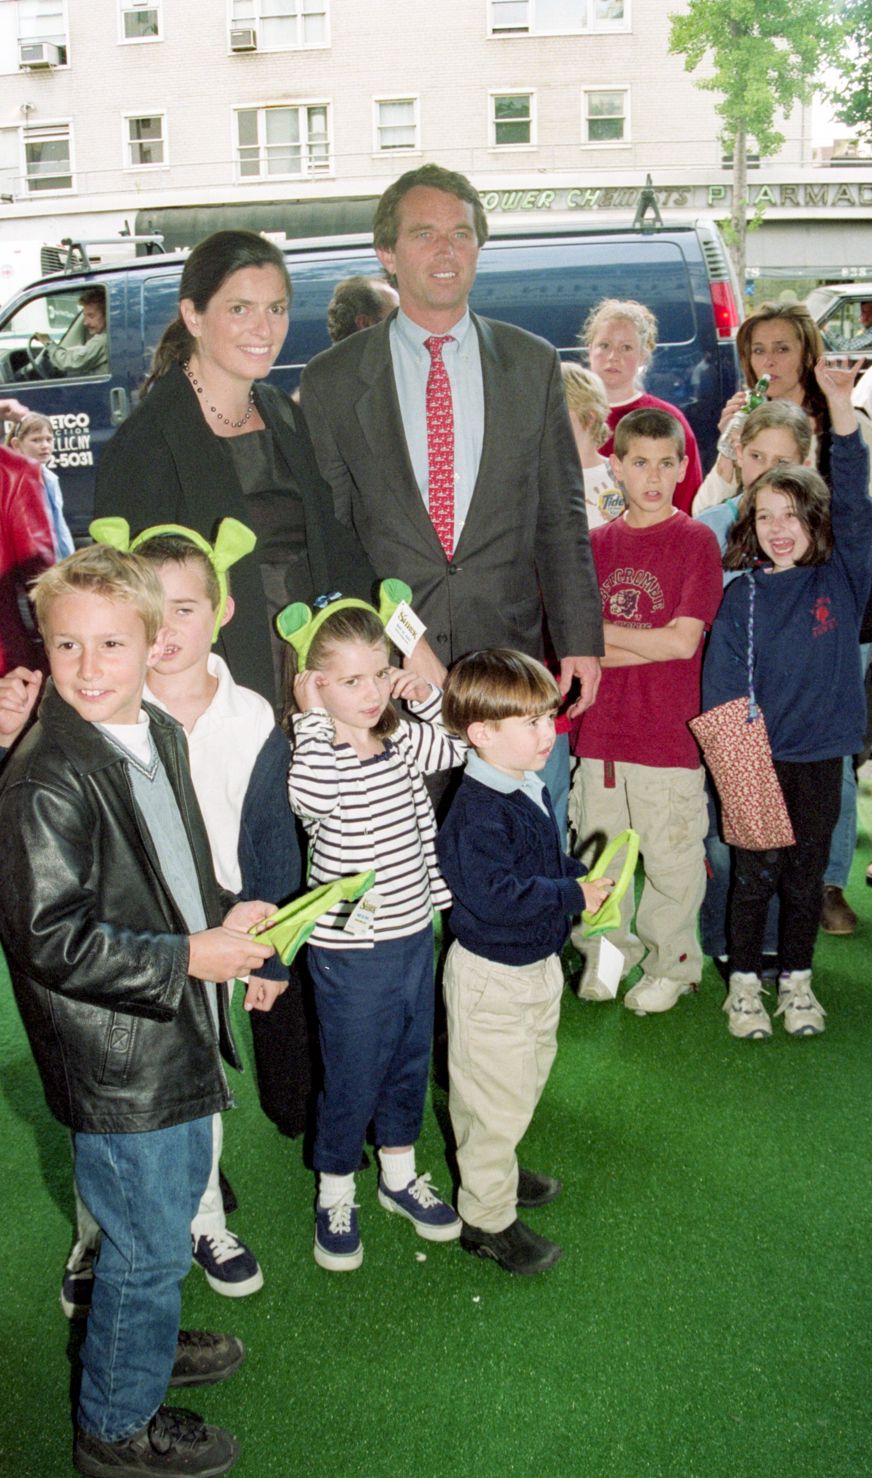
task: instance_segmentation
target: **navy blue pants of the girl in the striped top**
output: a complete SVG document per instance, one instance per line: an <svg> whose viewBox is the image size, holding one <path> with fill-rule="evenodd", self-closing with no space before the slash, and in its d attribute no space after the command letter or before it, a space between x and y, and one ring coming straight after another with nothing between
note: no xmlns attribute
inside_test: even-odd
<svg viewBox="0 0 872 1478"><path fill-rule="evenodd" d="M375 1144L421 1132L433 1041L433 927L372 949L309 946L324 1088L313 1163L352 1175L367 1128Z"/></svg>

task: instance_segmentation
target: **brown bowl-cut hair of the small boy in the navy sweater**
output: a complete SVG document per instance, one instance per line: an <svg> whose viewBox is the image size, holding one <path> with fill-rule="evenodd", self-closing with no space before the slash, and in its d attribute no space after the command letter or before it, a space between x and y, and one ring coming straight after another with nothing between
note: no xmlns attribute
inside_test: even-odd
<svg viewBox="0 0 872 1478"><path fill-rule="evenodd" d="M557 683L547 667L508 647L470 652L451 668L442 695L442 723L452 735L470 724L503 718L534 718L560 704Z"/></svg>

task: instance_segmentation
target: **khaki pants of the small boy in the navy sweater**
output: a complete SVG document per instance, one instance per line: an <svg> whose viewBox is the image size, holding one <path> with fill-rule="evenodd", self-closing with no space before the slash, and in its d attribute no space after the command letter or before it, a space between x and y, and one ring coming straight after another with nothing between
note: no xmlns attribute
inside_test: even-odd
<svg viewBox="0 0 872 1478"><path fill-rule="evenodd" d="M557 1051L563 971L557 955L497 965L455 941L443 986L457 1209L471 1227L504 1231L517 1215L514 1151Z"/></svg>

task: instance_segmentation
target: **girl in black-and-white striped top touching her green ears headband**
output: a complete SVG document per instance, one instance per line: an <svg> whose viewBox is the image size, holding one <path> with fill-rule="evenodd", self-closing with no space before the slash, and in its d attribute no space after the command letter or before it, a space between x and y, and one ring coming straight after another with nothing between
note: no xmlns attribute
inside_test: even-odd
<svg viewBox="0 0 872 1478"><path fill-rule="evenodd" d="M288 649L288 655L296 655ZM433 909L451 905L436 860L436 819L423 774L463 764L466 746L439 721L442 693L390 665L377 612L355 602L318 622L293 686L291 806L310 838L310 882L374 869L367 903L338 903L309 943L324 1088L318 1101L315 1261L331 1271L364 1258L355 1171L372 1120L378 1200L418 1236L460 1236L454 1209L415 1174L433 1036ZM399 718L403 699L417 723Z"/></svg>

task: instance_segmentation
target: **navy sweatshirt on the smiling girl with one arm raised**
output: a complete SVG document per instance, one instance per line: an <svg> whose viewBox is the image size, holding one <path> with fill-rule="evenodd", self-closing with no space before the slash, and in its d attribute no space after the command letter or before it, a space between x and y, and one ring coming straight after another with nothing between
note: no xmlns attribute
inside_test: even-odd
<svg viewBox="0 0 872 1478"><path fill-rule="evenodd" d="M754 690L776 760L835 760L863 748L859 640L872 585L869 452L860 432L834 436L826 565L754 571ZM749 579L724 591L702 668L702 706L748 693Z"/></svg>

